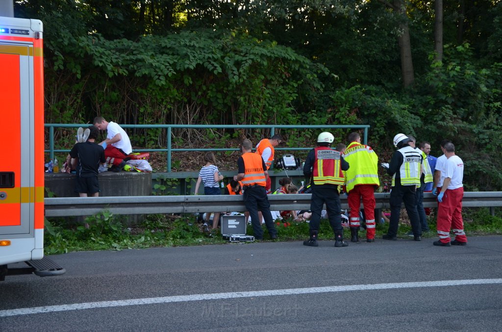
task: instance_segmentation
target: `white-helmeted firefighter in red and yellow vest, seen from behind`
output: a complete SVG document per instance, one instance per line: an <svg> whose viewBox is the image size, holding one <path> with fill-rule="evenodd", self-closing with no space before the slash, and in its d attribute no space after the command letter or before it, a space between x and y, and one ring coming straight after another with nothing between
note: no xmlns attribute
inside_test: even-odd
<svg viewBox="0 0 502 332"><path fill-rule="evenodd" d="M303 242L306 246L317 247L319 245L317 235L324 204L326 204L328 220L335 234L335 247L348 246L348 243L343 241L338 186L343 185L342 171L347 171L349 164L339 151L330 147L334 140L335 137L330 132L321 132L317 136L317 147L310 150L305 159L303 174L312 179L312 201L310 203L312 218L309 223L310 238Z"/></svg>

